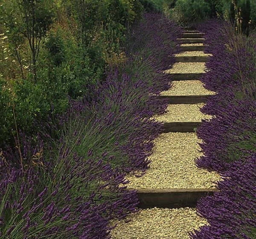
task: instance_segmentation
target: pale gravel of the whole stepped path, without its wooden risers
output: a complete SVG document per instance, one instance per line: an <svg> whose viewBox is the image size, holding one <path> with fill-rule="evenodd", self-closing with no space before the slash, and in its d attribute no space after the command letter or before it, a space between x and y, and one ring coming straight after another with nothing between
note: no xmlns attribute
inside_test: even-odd
<svg viewBox="0 0 256 239"><path fill-rule="evenodd" d="M202 46L203 43L188 43L181 46ZM202 51L182 52L176 56L210 55ZM175 63L166 73L201 73L205 72L204 62ZM204 89L199 80L173 81L173 87L160 95L214 95L215 92ZM199 111L200 104L172 104L167 107L168 112L156 115L159 121L201 121L210 118ZM196 167L194 159L201 156L195 132L169 132L160 134L154 140L153 153L145 174L137 178L127 174L130 183L128 188L212 188L213 181L221 180L216 172ZM140 172L136 172L140 173ZM125 221L131 220L128 223ZM129 214L122 220L111 220L110 226L117 226L111 230L111 239L189 239L188 231L198 229L207 224L207 220L196 215L195 208L150 208Z"/></svg>

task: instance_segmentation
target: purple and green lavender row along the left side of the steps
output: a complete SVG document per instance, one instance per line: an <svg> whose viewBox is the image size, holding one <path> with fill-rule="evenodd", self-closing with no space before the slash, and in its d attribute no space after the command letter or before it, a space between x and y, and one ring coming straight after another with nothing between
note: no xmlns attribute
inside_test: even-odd
<svg viewBox="0 0 256 239"><path fill-rule="evenodd" d="M20 132L19 147L1 152L0 238L109 239L109 221L137 211L124 176L148 167L163 128L150 117L167 107L150 95L170 87L162 70L180 33L145 14L125 44L127 60L90 87L90 100L70 98L65 113L34 124L36 138Z"/></svg>

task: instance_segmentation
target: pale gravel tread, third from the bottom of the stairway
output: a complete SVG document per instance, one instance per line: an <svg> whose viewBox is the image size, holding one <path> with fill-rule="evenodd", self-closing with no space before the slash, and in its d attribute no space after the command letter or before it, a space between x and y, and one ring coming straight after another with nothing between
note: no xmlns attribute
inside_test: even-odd
<svg viewBox="0 0 256 239"><path fill-rule="evenodd" d="M170 104L167 112L163 115L154 115L152 118L164 122L201 122L203 118L212 118L211 115L205 115L199 109L204 103L198 104Z"/></svg>

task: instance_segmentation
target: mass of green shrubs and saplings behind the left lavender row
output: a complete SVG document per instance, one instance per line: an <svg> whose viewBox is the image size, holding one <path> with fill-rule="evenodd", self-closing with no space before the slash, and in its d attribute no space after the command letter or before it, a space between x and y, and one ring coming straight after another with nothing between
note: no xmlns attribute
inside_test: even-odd
<svg viewBox="0 0 256 239"><path fill-rule="evenodd" d="M105 68L125 60L125 35L142 12L140 0L3 0L0 142L13 140L12 106L17 130L33 134L35 119L64 112L68 96L90 98Z"/></svg>

